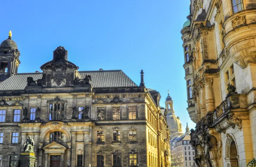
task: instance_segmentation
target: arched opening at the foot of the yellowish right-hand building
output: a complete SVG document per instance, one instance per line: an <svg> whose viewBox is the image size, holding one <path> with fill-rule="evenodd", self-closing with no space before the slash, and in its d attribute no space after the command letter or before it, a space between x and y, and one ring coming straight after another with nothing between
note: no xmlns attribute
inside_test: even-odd
<svg viewBox="0 0 256 167"><path fill-rule="evenodd" d="M227 167L239 167L238 163L238 153L235 139L232 135L227 133L227 140L225 144L225 160L227 162Z"/></svg>

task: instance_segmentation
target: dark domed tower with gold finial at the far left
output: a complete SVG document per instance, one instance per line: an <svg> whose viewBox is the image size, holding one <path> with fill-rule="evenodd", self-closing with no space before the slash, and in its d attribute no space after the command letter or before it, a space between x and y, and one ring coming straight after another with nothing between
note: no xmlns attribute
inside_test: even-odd
<svg viewBox="0 0 256 167"><path fill-rule="evenodd" d="M9 37L0 44L0 82L18 72L20 64L20 51L12 40L12 32Z"/></svg>

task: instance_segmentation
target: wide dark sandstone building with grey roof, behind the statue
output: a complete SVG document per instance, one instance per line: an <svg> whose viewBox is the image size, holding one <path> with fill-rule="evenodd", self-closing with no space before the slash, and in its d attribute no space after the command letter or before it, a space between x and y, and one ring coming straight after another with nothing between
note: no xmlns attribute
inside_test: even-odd
<svg viewBox="0 0 256 167"><path fill-rule="evenodd" d="M43 72L17 73L20 52L0 44L0 166L17 167L31 136L38 167L169 167L159 92L121 70L78 71L59 46Z"/></svg>

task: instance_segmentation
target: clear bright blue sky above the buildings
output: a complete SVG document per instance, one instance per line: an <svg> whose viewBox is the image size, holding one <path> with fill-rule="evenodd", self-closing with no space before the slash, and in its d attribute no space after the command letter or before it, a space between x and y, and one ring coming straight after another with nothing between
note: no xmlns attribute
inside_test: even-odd
<svg viewBox="0 0 256 167"><path fill-rule="evenodd" d="M180 38L189 0L4 0L0 6L0 41L12 30L19 72L41 71L60 45L79 70L122 69L140 84L143 69L163 107L170 90L183 131L186 122L195 127L186 110Z"/></svg>

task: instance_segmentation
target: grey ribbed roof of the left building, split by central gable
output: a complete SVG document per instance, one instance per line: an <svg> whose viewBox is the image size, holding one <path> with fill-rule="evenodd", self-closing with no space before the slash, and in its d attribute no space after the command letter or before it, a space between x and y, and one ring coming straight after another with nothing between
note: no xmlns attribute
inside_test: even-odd
<svg viewBox="0 0 256 167"><path fill-rule="evenodd" d="M92 76L93 88L100 87L127 87L137 86L122 70L104 70L104 71L79 71L81 78ZM41 79L43 73L18 73L0 83L0 90L22 90L26 87L27 77L33 77L36 81Z"/></svg>

